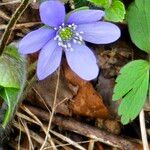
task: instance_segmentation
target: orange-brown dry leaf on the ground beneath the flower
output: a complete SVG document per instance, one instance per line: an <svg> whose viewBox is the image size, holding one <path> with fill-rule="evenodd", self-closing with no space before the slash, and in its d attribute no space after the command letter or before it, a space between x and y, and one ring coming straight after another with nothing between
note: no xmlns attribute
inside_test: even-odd
<svg viewBox="0 0 150 150"><path fill-rule="evenodd" d="M108 110L103 104L102 97L95 91L90 82L82 80L64 63L63 67L66 79L73 85L78 85L77 95L70 103L75 115L91 118L107 118Z"/></svg>

